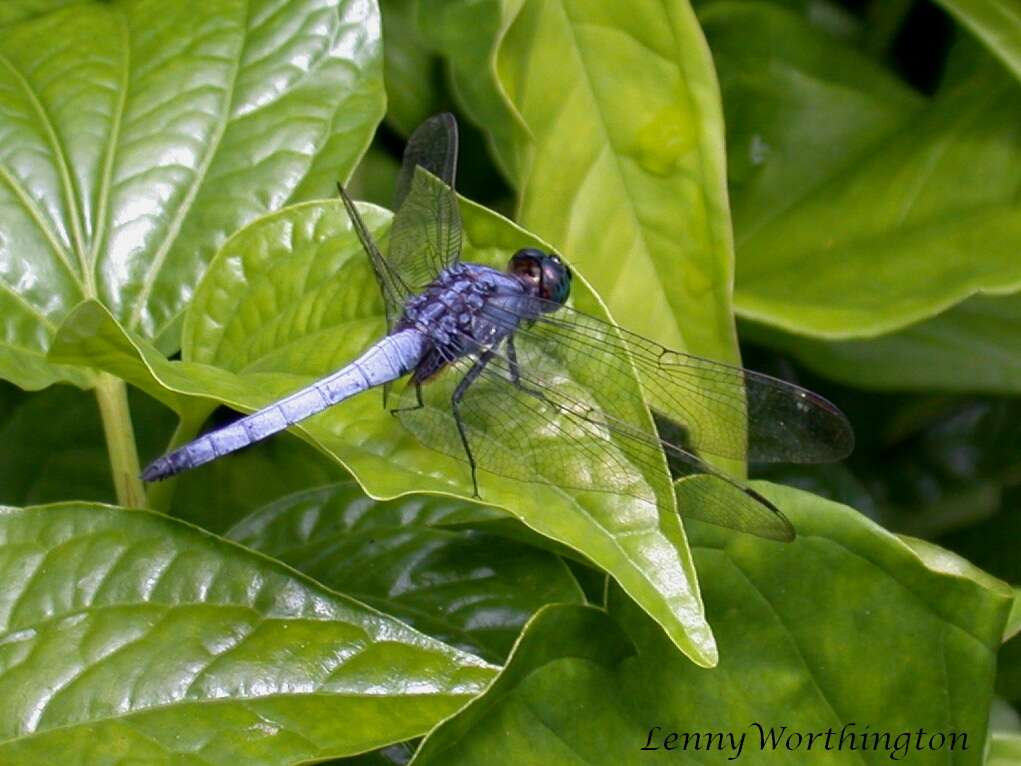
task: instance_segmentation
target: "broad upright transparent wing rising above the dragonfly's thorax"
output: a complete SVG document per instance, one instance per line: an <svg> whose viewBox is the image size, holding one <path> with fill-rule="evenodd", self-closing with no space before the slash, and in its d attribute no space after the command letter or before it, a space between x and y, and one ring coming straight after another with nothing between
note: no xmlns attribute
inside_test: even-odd
<svg viewBox="0 0 1021 766"><path fill-rule="evenodd" d="M412 291L426 287L460 256L454 194L457 124L437 114L411 134L397 179L387 264Z"/></svg>

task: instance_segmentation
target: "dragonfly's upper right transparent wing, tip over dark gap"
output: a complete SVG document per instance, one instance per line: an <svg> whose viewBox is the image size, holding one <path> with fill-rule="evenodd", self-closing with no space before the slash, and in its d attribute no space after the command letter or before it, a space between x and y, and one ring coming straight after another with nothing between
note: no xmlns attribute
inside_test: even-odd
<svg viewBox="0 0 1021 766"><path fill-rule="evenodd" d="M501 313L494 321L506 323L509 316ZM533 349L540 350L541 360L542 349L550 347L560 349L568 368L599 370L606 380L636 371L642 395L661 423L661 435L689 452L753 462L824 463L845 458L854 448L847 419L812 391L670 350L567 306L534 322L522 320L516 337L523 371L534 364L529 356Z"/></svg>

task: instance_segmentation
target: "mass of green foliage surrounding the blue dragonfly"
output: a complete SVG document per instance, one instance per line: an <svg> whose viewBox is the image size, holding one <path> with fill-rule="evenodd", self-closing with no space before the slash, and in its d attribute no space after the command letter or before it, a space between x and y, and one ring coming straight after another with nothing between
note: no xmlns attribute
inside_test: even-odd
<svg viewBox="0 0 1021 766"><path fill-rule="evenodd" d="M858 721L1021 762L1021 5L693 6L0 7L0 761L643 763L653 725ZM468 257L548 243L576 304L848 414L845 463L751 469L796 542L672 497L638 536L605 498L482 510L372 396L143 494L139 459L378 337L331 189L384 233L440 109Z"/></svg>

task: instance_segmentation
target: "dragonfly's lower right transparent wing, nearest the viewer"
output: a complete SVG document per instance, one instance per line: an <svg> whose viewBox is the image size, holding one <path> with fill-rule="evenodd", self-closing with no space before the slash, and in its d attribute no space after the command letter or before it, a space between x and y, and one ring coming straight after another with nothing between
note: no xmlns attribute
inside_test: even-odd
<svg viewBox="0 0 1021 766"><path fill-rule="evenodd" d="M578 365L561 346L493 351L465 391L460 416L481 470L522 481L612 492L651 505L671 491L665 453L690 478L678 494L682 513L774 539L793 538L793 528L768 500L720 474L646 425L633 374ZM451 362L422 391L405 389L397 416L424 444L467 460L453 392L477 357ZM483 488L484 491L484 488Z"/></svg>

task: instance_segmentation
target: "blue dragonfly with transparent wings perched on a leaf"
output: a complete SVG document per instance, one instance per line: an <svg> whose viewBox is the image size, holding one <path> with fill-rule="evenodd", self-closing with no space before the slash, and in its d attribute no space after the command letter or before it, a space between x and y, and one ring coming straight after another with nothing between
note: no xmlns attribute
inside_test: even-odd
<svg viewBox="0 0 1021 766"><path fill-rule="evenodd" d="M386 254L338 184L387 334L331 375L158 458L143 478L201 466L382 387L419 441L468 464L474 497L480 472L652 505L683 484L691 518L793 539L776 506L709 459L839 460L854 445L843 414L799 386L571 307L572 272L554 252L523 247L503 270L461 260L456 165L456 121L430 117L404 151Z"/></svg>

